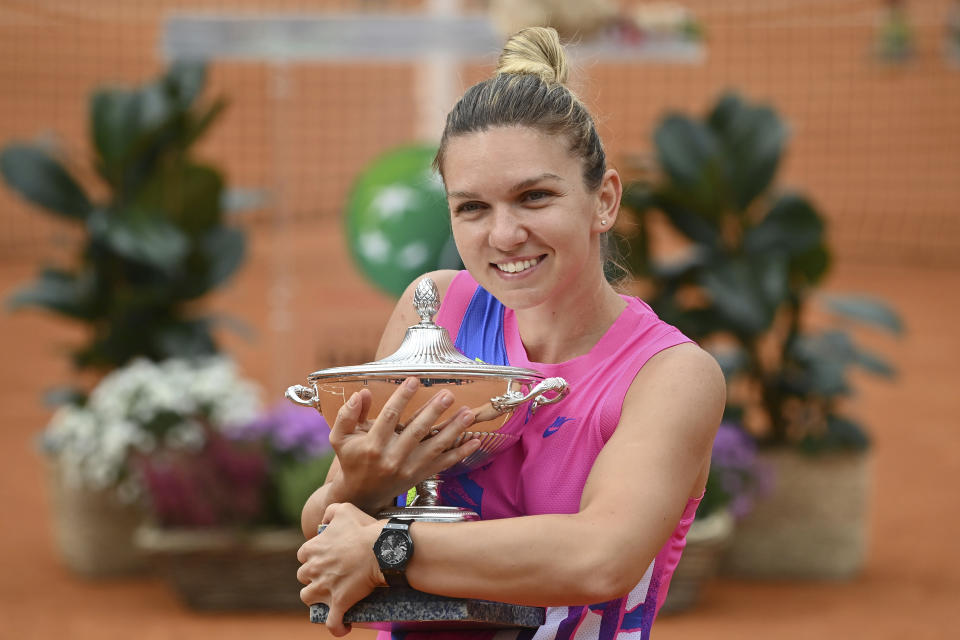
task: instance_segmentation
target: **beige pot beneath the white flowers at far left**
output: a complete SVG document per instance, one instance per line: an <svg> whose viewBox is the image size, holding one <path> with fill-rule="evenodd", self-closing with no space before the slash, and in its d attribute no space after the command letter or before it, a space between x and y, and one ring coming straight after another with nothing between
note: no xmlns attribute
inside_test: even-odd
<svg viewBox="0 0 960 640"><path fill-rule="evenodd" d="M147 559L133 542L143 522L140 509L121 503L112 489L72 486L55 459L47 468L54 539L65 564L89 578L146 570Z"/></svg>

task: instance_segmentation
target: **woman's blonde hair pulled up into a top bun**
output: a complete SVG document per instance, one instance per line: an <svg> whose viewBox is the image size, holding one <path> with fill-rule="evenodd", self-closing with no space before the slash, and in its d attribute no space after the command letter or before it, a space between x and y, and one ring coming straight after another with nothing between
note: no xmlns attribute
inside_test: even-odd
<svg viewBox="0 0 960 640"><path fill-rule="evenodd" d="M443 175L450 138L497 126L526 126L565 136L583 161L584 184L596 191L606 172L603 143L593 118L566 86L567 61L554 29L518 31L500 53L494 75L463 94L447 115L434 166Z"/></svg>

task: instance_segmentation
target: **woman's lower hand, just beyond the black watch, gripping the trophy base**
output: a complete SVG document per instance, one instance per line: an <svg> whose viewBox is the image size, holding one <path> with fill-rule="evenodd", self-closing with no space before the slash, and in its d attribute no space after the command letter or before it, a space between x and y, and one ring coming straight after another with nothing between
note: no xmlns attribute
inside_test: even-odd
<svg viewBox="0 0 960 640"><path fill-rule="evenodd" d="M349 633L343 614L375 587L386 585L373 554L382 523L351 504L332 504L323 514L323 533L307 540L297 552L297 580L307 585L300 599L330 607L327 629L335 636Z"/></svg>

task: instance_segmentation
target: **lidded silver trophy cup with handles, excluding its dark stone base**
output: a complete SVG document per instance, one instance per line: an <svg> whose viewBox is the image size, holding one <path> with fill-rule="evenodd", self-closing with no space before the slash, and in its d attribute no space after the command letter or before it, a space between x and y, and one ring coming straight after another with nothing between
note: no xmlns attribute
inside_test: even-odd
<svg viewBox="0 0 960 640"><path fill-rule="evenodd" d="M440 307L440 296L430 278L417 284L413 298L420 323L407 329L400 348L393 354L361 365L335 367L315 371L307 376L307 385L293 385L286 391L291 401L313 407L332 425L340 407L361 389L369 389L373 397L369 415L379 415L384 404L408 377L420 380L420 386L399 418L398 430L411 420L430 398L442 389L449 389L454 403L437 420L437 424L453 417L464 405L474 414L474 424L457 439L454 446L468 438L480 440L480 448L447 469L445 474L465 473L486 464L493 456L520 439L521 421L510 422L519 407L535 413L543 405L562 400L569 386L562 378L547 378L532 369L488 365L471 360L457 351L450 335L433 322ZM429 435L427 437L430 437ZM400 507L403 517L424 520L472 519L467 510L437 507L439 497L436 477L417 486L416 510ZM380 515L401 515L395 510Z"/></svg>

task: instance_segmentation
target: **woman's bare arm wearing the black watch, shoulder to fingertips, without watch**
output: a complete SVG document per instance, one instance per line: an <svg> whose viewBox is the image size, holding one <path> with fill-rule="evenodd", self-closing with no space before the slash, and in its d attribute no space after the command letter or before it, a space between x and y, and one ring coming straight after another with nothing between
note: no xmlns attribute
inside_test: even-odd
<svg viewBox="0 0 960 640"><path fill-rule="evenodd" d="M414 523L407 579L421 591L540 606L624 595L669 538L688 498L702 490L724 393L719 367L698 347L659 353L628 390L578 513ZM300 551L299 577L309 583L302 596L329 603L328 626L343 633L338 616L352 598L382 584L370 551L382 523L342 505L325 520L331 526ZM358 587L357 580L367 582Z"/></svg>

